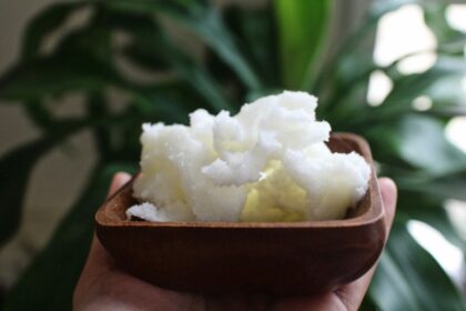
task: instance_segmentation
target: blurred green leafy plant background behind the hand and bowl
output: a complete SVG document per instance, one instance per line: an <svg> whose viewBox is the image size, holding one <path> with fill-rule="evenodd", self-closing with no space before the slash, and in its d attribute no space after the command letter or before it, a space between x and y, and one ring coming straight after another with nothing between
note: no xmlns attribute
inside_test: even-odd
<svg viewBox="0 0 466 311"><path fill-rule="evenodd" d="M93 213L110 178L119 170L138 171L142 122L185 122L200 107L234 112L246 101L292 89L316 94L318 118L335 131L365 137L378 174L392 177L399 188L394 230L362 309L465 310L466 224L455 220L466 209L466 154L445 129L466 114L466 30L448 19L449 1L347 2L43 6L28 20L14 62L0 73L3 111L20 109L27 120L2 127L0 259L13 252L18 232L28 230L26 223L18 231L21 222L31 223L29 234L45 245L39 252L33 243L20 245L31 260L24 270L2 271L9 275L2 308L70 309ZM389 22L403 12L412 12L406 23ZM414 30L416 17L427 32ZM407 40L393 36L399 30ZM422 52L406 49L423 36ZM13 143L21 127L34 133ZM466 132L457 131L458 141L462 134L464 141ZM91 146L75 148L84 141ZM70 169L53 161L40 168L57 152ZM42 179L36 177L38 167ZM83 167L92 169L83 173ZM48 175L61 177L61 188L47 187ZM70 185L80 188L78 198L54 203ZM23 210L34 205L28 201L34 191L54 207L36 207L26 221ZM52 223L54 233L39 238L44 229L34 221ZM445 264L429 244L453 248L444 257L456 261Z"/></svg>

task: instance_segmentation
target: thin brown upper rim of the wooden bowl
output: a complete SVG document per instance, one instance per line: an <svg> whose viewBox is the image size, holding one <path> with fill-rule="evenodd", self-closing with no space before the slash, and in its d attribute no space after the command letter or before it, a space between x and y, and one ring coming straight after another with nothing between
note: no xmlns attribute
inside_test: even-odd
<svg viewBox="0 0 466 311"><path fill-rule="evenodd" d="M197 229L325 229L325 228L354 228L372 224L384 218L382 207L381 190L378 188L377 177L373 167L373 159L368 143L364 138L354 133L335 132L333 138L351 140L355 142L358 152L371 167L371 178L368 181L368 195L371 195L371 205L366 212L361 215L341 219L341 220L320 220L320 221L296 221L296 222L226 222L226 221L170 221L170 222L150 222L115 220L109 217L108 211L112 205L113 199L122 195L122 192L130 191L135 178L133 177L119 191L108 198L95 213L95 223L100 227L124 227L124 228L197 228ZM354 150L357 152L357 150Z"/></svg>

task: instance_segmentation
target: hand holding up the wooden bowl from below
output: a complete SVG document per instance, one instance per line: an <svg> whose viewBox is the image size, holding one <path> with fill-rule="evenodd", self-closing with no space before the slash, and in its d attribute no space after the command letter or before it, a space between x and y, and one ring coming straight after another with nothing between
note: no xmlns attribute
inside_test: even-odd
<svg viewBox="0 0 466 311"><path fill-rule="evenodd" d="M130 175L116 173L109 195ZM387 178L378 180L387 231L395 214L397 191ZM73 295L74 310L357 310L372 280L375 265L358 280L318 295L212 297L176 292L149 284L120 269L94 237L88 261Z"/></svg>

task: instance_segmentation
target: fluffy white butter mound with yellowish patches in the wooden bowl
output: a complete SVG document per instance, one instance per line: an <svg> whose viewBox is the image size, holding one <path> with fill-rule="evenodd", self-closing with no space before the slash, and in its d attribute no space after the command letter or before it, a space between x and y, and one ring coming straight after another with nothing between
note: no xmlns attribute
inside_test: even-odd
<svg viewBox="0 0 466 311"><path fill-rule="evenodd" d="M331 127L315 120L316 107L313 96L284 91L244 104L234 117L200 109L189 127L143 124L142 175L133 194L145 203L130 208L128 218L343 218L366 192L371 169L354 152L328 150Z"/></svg>

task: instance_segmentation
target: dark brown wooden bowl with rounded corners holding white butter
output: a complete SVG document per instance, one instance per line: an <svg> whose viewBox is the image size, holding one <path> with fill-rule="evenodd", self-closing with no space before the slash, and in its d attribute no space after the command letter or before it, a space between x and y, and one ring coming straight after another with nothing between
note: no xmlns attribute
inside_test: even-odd
<svg viewBox="0 0 466 311"><path fill-rule="evenodd" d="M356 151L368 163L367 143L333 134L333 151ZM135 203L132 181L97 212L97 235L132 274L169 289L207 292L312 293L363 275L385 242L384 211L374 170L369 188L344 220L308 222L128 221Z"/></svg>

